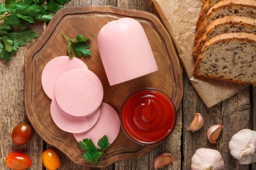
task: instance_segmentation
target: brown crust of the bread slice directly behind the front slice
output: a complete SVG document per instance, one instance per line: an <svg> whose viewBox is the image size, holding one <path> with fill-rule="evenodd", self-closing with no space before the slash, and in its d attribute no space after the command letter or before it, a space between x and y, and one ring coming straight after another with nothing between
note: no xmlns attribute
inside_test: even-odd
<svg viewBox="0 0 256 170"><path fill-rule="evenodd" d="M211 22L207 28L205 29L205 33L203 33L202 37L198 40L198 42L196 43L194 50L193 50L193 55L195 58L198 57L198 55L200 54L203 44L205 41L207 41L208 39L211 39L212 36L211 33L217 29L218 27L230 27L230 25L236 25L241 27L241 30L238 30L236 32L245 32L246 27L250 27L252 30L255 30L255 32L253 32L254 34L256 34L256 19L255 18L250 18L250 17L245 17L245 16L224 16L224 18L218 18L216 20L213 20L213 22ZM229 32L229 30L227 29L226 31L223 30L224 32L221 33L231 33ZM219 34L221 34L219 33ZM246 32L245 32L246 33ZM247 32L247 33L251 33L251 32Z"/></svg>

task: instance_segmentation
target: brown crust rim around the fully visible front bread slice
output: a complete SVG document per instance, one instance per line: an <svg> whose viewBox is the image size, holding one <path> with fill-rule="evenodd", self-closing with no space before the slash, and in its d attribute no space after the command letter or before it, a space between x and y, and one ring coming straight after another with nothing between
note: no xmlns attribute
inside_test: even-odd
<svg viewBox="0 0 256 170"><path fill-rule="evenodd" d="M200 76L203 78L213 78L216 80L224 80L227 82L233 82L233 83L237 83L237 84L244 84L244 85L252 84L253 86L256 86L256 82L244 82L244 81L236 80L235 78L230 79L230 78L225 78L225 77L221 77L221 76L217 76L217 75L206 75L205 73L200 73L200 71L199 71L200 64L202 63L202 59L204 57L203 54L209 47L211 47L214 44L217 44L219 42L236 41L236 40L253 42L256 44L256 35L251 34L251 33L224 33L224 34L217 35L217 36L213 37L212 39L209 39L209 41L205 42L205 45L203 46L203 49L202 49L202 53L198 56L198 58L196 60L196 64L194 67L194 75ZM256 51L256 49L255 49L255 51ZM256 67L256 65L253 65L253 67Z"/></svg>

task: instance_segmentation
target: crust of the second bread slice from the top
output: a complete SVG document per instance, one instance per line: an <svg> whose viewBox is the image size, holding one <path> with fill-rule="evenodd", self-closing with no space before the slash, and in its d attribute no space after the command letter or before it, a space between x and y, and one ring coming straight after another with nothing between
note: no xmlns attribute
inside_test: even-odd
<svg viewBox="0 0 256 170"><path fill-rule="evenodd" d="M243 8L251 8L256 10L256 1L255 0L225 0L225 1L220 1L219 3L216 3L215 5L213 5L213 7L211 7L208 10L205 19L203 20L202 24L200 25L200 27L198 27L198 30L196 31L195 42L198 42L200 37L203 35L203 33L205 32L205 27L207 27L207 25L209 25L209 23L212 21L210 18L214 16L214 14L218 10L222 10L230 7L232 8L243 7ZM240 13L233 14L231 12L230 12L230 15L244 16L244 14L240 14ZM252 16L250 17L256 18L256 13L255 14L253 13Z"/></svg>

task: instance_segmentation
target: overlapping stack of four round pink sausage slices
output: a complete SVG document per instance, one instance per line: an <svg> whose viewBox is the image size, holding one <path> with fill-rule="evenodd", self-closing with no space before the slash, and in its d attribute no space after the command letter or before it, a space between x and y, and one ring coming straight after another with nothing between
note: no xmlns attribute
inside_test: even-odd
<svg viewBox="0 0 256 170"><path fill-rule="evenodd" d="M51 99L51 117L63 131L73 133L77 141L106 135L112 144L120 129L115 109L103 101L98 76L78 58L60 56L45 65L41 84Z"/></svg>

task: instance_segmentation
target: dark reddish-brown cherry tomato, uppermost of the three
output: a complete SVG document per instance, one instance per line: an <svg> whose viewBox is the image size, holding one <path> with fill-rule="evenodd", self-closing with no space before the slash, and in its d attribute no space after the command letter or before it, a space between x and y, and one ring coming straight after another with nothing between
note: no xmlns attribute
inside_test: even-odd
<svg viewBox="0 0 256 170"><path fill-rule="evenodd" d="M12 141L16 144L26 144L32 137L32 127L26 123L20 123L12 129Z"/></svg>

